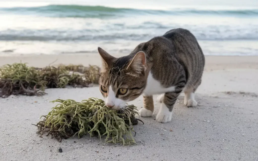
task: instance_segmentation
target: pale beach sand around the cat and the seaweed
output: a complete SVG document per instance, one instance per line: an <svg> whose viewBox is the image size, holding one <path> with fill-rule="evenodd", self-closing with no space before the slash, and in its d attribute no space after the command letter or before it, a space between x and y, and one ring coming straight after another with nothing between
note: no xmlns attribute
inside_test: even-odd
<svg viewBox="0 0 258 161"><path fill-rule="evenodd" d="M0 57L0 65L28 62L100 65L97 54ZM158 123L155 98L152 117L134 126L134 146L104 145L98 138L69 138L59 143L36 134L41 115L57 98L80 101L102 98L98 87L47 89L47 95L0 98L0 160L258 160L258 57L206 56L197 107L175 104L172 121ZM140 109L142 97L130 102ZM172 131L170 131L170 129ZM62 148L62 153L59 152Z"/></svg>

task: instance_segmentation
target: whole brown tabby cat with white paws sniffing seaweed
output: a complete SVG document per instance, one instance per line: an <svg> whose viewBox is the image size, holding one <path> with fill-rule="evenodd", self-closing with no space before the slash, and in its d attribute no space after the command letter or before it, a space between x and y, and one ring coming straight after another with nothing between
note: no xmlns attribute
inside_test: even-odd
<svg viewBox="0 0 258 161"><path fill-rule="evenodd" d="M196 106L195 91L201 83L205 58L195 36L177 28L139 44L131 54L113 57L98 47L102 58L99 88L106 105L125 108L127 101L143 95L141 117L154 111L152 95L161 102L156 120L170 122L174 104L184 92L184 104Z"/></svg>

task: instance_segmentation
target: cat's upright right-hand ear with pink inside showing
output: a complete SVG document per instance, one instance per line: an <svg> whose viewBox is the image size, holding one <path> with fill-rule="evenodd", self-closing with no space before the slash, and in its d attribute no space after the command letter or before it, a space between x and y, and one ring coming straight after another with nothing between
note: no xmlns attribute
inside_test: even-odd
<svg viewBox="0 0 258 161"><path fill-rule="evenodd" d="M126 69L134 69L137 73L141 73L146 70L146 56L143 51L138 52L129 63Z"/></svg>

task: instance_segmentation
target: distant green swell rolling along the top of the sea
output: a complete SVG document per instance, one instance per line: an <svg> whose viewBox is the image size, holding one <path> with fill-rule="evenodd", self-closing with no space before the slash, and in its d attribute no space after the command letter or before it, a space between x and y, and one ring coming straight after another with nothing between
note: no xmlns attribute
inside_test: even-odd
<svg viewBox="0 0 258 161"><path fill-rule="evenodd" d="M79 17L79 18L104 18L115 16L128 16L128 14L166 14L166 15L258 15L257 9L171 9L171 10L143 10L130 8L113 8L105 6L82 5L47 5L39 7L11 7L1 8L0 13L37 14L50 17Z"/></svg>

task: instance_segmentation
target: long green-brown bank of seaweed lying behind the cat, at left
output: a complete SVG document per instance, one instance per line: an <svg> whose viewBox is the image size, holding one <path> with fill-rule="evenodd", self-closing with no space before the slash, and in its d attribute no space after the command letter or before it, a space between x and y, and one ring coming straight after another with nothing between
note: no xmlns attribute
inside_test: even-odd
<svg viewBox="0 0 258 161"><path fill-rule="evenodd" d="M83 72L83 73L80 73ZM99 81L100 68L89 65L29 67L26 63L0 67L0 97L43 95L46 88L89 87Z"/></svg>

